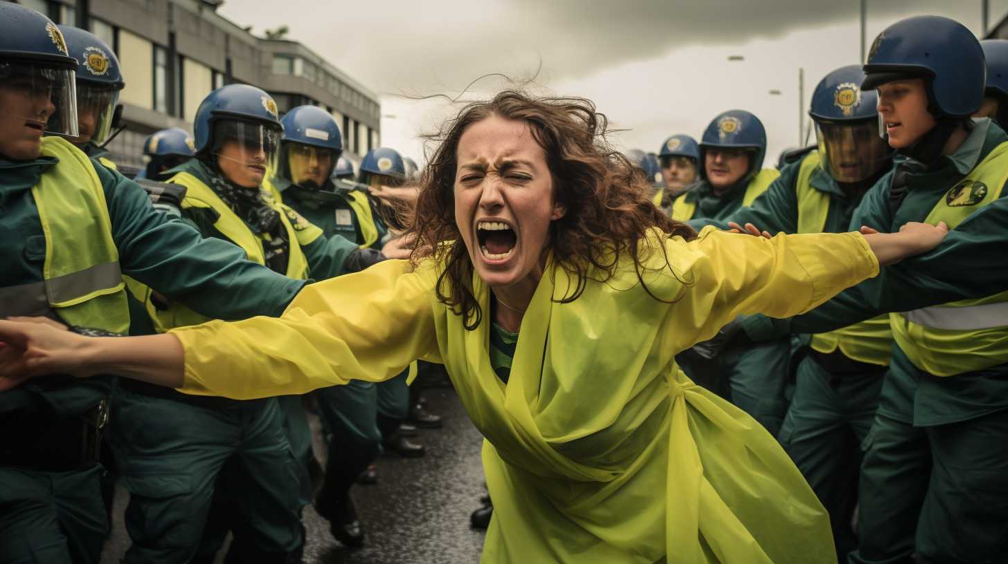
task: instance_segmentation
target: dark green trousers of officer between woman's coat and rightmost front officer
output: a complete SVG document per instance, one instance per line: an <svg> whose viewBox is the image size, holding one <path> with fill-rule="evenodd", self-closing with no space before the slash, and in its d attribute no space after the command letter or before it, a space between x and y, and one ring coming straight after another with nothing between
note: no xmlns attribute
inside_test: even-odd
<svg viewBox="0 0 1008 564"><path fill-rule="evenodd" d="M875 419L885 370L833 375L813 357L805 357L778 436L830 513L841 561L857 547L851 521L858 501L861 445Z"/></svg>

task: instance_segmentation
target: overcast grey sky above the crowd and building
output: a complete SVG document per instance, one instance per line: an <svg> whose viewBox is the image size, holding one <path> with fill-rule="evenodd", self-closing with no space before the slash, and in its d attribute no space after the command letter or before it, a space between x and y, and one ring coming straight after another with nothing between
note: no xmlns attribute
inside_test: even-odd
<svg viewBox="0 0 1008 564"><path fill-rule="evenodd" d="M958 19L981 33L981 0L868 0L867 42L916 14ZM443 101L490 73L544 94L593 100L614 141L656 151L674 133L699 139L717 114L755 113L769 136L767 166L798 145L798 68L804 104L827 73L859 62L859 0L228 0L221 14L253 32L287 25L301 41L381 96L382 144L422 159L418 133L454 113ZM1008 11L991 0L990 24ZM729 61L741 54L743 61ZM506 86L484 80L472 96ZM779 90L780 95L770 95ZM807 108L806 108L807 109Z"/></svg>

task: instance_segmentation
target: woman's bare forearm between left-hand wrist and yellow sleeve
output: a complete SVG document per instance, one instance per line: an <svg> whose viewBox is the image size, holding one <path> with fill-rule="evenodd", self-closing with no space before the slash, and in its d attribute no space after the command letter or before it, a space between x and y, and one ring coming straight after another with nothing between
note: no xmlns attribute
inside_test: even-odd
<svg viewBox="0 0 1008 564"><path fill-rule="evenodd" d="M168 388L184 383L185 351L170 333L90 338L81 357L82 369L91 374L115 374Z"/></svg>

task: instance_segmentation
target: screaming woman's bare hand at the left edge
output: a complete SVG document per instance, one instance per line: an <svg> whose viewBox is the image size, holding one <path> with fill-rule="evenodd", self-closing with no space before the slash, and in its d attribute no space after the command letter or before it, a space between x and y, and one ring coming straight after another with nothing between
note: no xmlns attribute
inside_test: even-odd
<svg viewBox="0 0 1008 564"><path fill-rule="evenodd" d="M91 376L83 370L89 340L46 317L0 320L0 392L43 374Z"/></svg>

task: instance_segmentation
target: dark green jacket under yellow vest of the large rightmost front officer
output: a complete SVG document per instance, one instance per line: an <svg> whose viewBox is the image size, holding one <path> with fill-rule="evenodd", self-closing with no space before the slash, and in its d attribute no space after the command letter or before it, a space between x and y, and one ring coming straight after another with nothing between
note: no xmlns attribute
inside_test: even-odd
<svg viewBox="0 0 1008 564"><path fill-rule="evenodd" d="M893 172L873 186L858 207L850 229L869 226L894 233L908 222L923 222L939 198L1008 135L990 120L978 120L956 153L943 157L932 171L909 174L907 193L890 210ZM897 156L897 165L902 157ZM908 311L1008 290L1004 260L1008 200L1001 197L960 224L937 248L901 263L883 267L879 276L849 288L822 306L790 319L762 318L750 334L772 338L787 332L824 332L888 311ZM921 371L909 375L917 390L914 423L933 425L963 421L1008 409L1008 365L977 373L937 378ZM919 386L919 388L916 388ZM904 387L905 389L905 387Z"/></svg>

